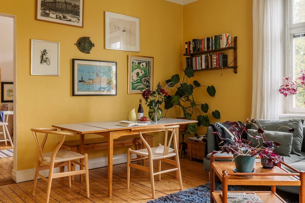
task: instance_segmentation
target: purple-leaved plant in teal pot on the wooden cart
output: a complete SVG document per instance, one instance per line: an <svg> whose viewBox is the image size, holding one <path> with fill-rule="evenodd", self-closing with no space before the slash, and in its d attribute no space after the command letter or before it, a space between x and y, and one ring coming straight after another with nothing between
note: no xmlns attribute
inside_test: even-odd
<svg viewBox="0 0 305 203"><path fill-rule="evenodd" d="M236 154L236 155L251 155L251 156L260 156L260 158L264 158L267 157L268 158L268 163L273 163L274 166L278 166L281 167L281 163L280 161L284 161L283 157L280 157L280 155L276 152L270 151L267 149L267 147L261 146L260 147L260 139L263 140L263 142L267 145L267 146L272 146L273 144L278 146L280 145L277 142L273 142L272 140L268 140L265 135L264 135L264 129L261 127L260 123L254 119L250 120L247 119L246 124L252 124L257 128L257 132L260 133L260 136L258 135L250 135L248 133L248 129L246 128L246 126L244 124L241 124L239 122L232 122L232 121L227 121L224 122L226 124L230 124L231 127L228 128L228 131L231 132L231 134L233 135L232 139L229 138L221 138L221 135L218 132L213 132L212 134L217 135L220 139L227 139L230 142L226 142L224 144L224 146L221 147L221 153L223 152L227 152L232 153L232 154ZM287 126L282 126L280 128L289 128ZM279 129L280 129L279 128ZM278 129L278 130L279 130ZM289 132L293 132L294 129L293 128L289 128L288 130ZM244 138L242 138L242 134L246 134L249 135L249 137L251 137L251 140L246 140ZM276 135L276 133L275 133ZM275 136L274 135L274 136ZM257 139L259 144L257 146L254 146L254 143L252 143L253 139ZM211 153L211 155L218 153L217 151L213 151Z"/></svg>

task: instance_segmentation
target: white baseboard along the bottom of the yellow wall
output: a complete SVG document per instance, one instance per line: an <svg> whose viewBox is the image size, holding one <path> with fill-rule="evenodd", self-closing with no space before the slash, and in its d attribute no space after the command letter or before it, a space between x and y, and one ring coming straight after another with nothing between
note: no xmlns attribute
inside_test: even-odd
<svg viewBox="0 0 305 203"><path fill-rule="evenodd" d="M131 159L135 159L136 155L131 154ZM127 153L126 154L118 154L113 156L113 165L119 164L119 163L126 163L127 162ZM104 167L108 166L108 158L107 156L105 157L100 157L96 159L89 159L89 169L94 169L94 168L99 168L99 167ZM79 166L76 165L76 169L79 170ZM67 167L65 166L65 171L67 171ZM49 170L41 170L39 172L41 175L44 177L48 177L49 175ZM54 173L59 173L59 168L54 169ZM31 169L26 169L26 170L19 170L19 171L12 171L12 179L16 181L16 183L28 181L28 180L34 180L34 175L35 175L35 168Z"/></svg>

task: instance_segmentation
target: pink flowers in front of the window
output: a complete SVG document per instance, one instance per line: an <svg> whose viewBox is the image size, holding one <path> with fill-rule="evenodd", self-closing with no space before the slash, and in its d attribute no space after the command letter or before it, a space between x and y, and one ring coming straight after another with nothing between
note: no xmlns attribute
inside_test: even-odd
<svg viewBox="0 0 305 203"><path fill-rule="evenodd" d="M296 79L296 81L292 80L289 77L286 77L285 79L285 85L281 85L279 88L280 94L283 94L284 96L287 95L295 95L298 91L297 89L305 88L305 71L301 71L300 77Z"/></svg>

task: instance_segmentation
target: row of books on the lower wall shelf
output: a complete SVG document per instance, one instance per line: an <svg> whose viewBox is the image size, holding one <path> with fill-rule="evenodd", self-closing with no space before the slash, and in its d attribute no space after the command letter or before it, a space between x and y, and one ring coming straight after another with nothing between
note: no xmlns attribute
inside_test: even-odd
<svg viewBox="0 0 305 203"><path fill-rule="evenodd" d="M193 68L194 70L227 67L228 55L224 53L215 53L203 54L199 57L186 57L185 65L187 68Z"/></svg>

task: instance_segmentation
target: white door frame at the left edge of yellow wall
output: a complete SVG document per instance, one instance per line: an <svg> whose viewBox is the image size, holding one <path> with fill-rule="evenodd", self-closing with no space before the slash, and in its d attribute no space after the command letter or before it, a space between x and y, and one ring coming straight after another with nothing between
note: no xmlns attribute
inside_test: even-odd
<svg viewBox="0 0 305 203"><path fill-rule="evenodd" d="M17 113L17 105L16 105L16 98L17 98L17 91L16 91L16 16L9 15L5 13L0 13L0 16L13 18L13 77L14 77L14 100L13 100L13 108L14 108L14 115L13 115L13 144L14 144L14 161L13 161L13 171L12 171L12 179L18 183L16 180L16 171L17 171L17 122L16 122L16 113Z"/></svg>

